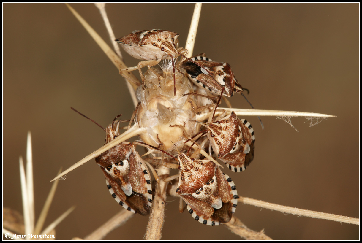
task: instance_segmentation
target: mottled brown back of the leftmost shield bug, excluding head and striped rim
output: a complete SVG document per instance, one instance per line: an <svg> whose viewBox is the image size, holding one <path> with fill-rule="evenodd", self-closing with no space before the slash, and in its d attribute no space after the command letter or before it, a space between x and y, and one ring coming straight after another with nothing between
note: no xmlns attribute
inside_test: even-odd
<svg viewBox="0 0 362 243"><path fill-rule="evenodd" d="M121 163L123 160L129 162L129 172L119 173L118 176L111 176L105 170L112 165ZM140 167L141 158L135 151L134 145L129 142L123 142L100 154L96 158L97 164L101 167L106 180L113 188L114 193L126 203L135 212L147 215L150 213L150 206L147 203L147 188L145 187L146 179L144 178L144 172ZM127 196L122 190L122 183L131 183L132 194Z"/></svg>

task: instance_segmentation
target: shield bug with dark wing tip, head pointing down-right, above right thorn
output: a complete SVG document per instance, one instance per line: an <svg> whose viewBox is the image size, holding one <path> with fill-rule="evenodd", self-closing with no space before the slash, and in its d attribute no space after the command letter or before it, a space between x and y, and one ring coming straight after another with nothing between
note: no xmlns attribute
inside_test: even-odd
<svg viewBox="0 0 362 243"><path fill-rule="evenodd" d="M223 95L227 97L232 97L234 92L243 92L243 87L237 82L229 64L212 61L204 53L191 57L191 60L194 62L185 60L181 68L186 70L195 84L218 95L221 95L224 88Z"/></svg>

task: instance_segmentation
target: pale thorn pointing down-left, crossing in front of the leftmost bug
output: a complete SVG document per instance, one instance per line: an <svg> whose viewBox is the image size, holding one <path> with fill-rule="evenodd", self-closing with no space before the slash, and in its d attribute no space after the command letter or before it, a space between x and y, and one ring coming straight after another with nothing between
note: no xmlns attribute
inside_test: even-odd
<svg viewBox="0 0 362 243"><path fill-rule="evenodd" d="M138 124L134 124L126 132L122 133L121 135L119 135L118 137L116 137L112 141L110 141L108 144L103 145L101 148L97 149L93 153L91 153L88 156L84 157L83 159L81 159L80 161L78 161L77 163L75 163L74 165L72 165L71 167L69 167L68 169L63 171L62 173L60 173L58 176L56 176L50 182L52 182L53 180L59 179L60 177L62 177L65 174L69 173L70 171L74 170L75 168L83 165L84 163L90 161L93 158L96 158L98 155L100 155L101 153L103 153L103 152L107 151L108 149L114 147L115 145L120 144L121 142L124 142L124 141L126 141L127 139L129 139L131 137L140 135L141 133L144 133L146 131L147 131L146 128L144 128L144 127L139 128Z"/></svg>

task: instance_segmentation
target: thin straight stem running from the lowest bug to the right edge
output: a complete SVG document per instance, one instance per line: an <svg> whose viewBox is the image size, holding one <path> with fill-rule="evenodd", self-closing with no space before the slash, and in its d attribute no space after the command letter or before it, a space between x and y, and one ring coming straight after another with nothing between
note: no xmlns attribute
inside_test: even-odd
<svg viewBox="0 0 362 243"><path fill-rule="evenodd" d="M271 210L277 210L282 213L290 213L298 216L306 216L311 218L321 218L321 219L328 219L332 221L338 221L338 222L344 222L344 223L352 223L355 225L359 225L359 219L358 218L352 218L352 217L346 217L346 216L340 216L336 214L331 213L322 213L307 209L299 209L299 208L292 208L288 206L282 206L274 203L266 203L264 201L251 199L248 197L240 197L238 199L239 202L244 204L250 204L261 208L267 208Z"/></svg>

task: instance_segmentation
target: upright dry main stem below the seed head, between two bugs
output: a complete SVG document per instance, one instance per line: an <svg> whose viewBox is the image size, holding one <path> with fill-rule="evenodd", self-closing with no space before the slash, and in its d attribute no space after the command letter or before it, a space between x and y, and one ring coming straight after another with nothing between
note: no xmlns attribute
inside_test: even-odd
<svg viewBox="0 0 362 243"><path fill-rule="evenodd" d="M157 170L157 174L160 178L160 183L156 183L155 195L152 201L152 212L147 223L146 234L144 235L145 240L161 239L161 230L164 223L168 182L165 182L163 179L168 177L170 169L161 166L160 169Z"/></svg>

